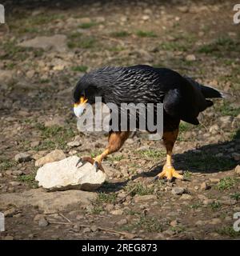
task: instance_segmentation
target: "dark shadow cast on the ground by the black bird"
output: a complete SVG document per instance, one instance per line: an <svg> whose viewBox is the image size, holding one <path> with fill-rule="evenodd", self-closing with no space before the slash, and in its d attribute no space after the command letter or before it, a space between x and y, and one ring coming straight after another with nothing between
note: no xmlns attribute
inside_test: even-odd
<svg viewBox="0 0 240 256"><path fill-rule="evenodd" d="M228 158L227 151L239 143L239 138L240 130L229 142L210 144L199 147L198 150L188 150L183 154L174 154L174 168L207 174L234 169L239 162ZM162 170L162 167L162 164L156 164L149 171L135 175L132 180L140 177L154 178ZM116 192L126 186L127 183L128 181L107 183L106 186L102 186L101 191Z"/></svg>

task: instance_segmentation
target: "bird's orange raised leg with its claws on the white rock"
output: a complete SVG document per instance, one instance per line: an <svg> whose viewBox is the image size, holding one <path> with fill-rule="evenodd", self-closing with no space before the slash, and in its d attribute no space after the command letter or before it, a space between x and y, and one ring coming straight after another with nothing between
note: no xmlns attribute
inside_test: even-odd
<svg viewBox="0 0 240 256"><path fill-rule="evenodd" d="M120 148L122 147L126 139L129 137L129 135L129 131L110 132L108 137L108 146L106 147L106 150L102 152L102 154L99 154L95 158L82 157L80 160L92 163L96 170L100 169L104 171L102 168L102 160L106 158L108 154L112 154L120 150Z"/></svg>

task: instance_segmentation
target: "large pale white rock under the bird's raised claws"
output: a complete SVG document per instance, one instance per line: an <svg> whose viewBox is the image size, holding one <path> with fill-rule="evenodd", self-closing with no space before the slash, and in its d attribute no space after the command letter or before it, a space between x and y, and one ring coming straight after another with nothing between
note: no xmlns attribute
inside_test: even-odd
<svg viewBox="0 0 240 256"><path fill-rule="evenodd" d="M106 181L102 170L97 172L90 162L79 164L79 158L71 156L59 162L51 162L38 169L36 181L48 190L95 190Z"/></svg>

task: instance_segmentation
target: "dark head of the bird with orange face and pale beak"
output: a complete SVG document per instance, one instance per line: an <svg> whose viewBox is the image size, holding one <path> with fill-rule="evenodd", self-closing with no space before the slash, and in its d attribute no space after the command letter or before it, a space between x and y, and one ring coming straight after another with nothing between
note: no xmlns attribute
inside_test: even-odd
<svg viewBox="0 0 240 256"><path fill-rule="evenodd" d="M86 105L93 105L96 97L101 97L102 93L98 86L85 75L74 88L74 114L80 118L86 109Z"/></svg>

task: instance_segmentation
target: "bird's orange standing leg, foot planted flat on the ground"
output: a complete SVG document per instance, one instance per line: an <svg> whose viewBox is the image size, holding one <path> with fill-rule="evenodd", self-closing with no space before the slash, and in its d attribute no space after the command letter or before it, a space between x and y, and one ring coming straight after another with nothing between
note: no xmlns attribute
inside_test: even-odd
<svg viewBox="0 0 240 256"><path fill-rule="evenodd" d="M172 166L172 152L174 148L174 143L178 137L178 129L171 131L171 132L164 132L163 133L163 142L166 146L166 164L163 166L162 172L158 174L155 179L158 178L166 178L167 180L171 181L172 178L179 178L183 179L181 174L174 169Z"/></svg>

